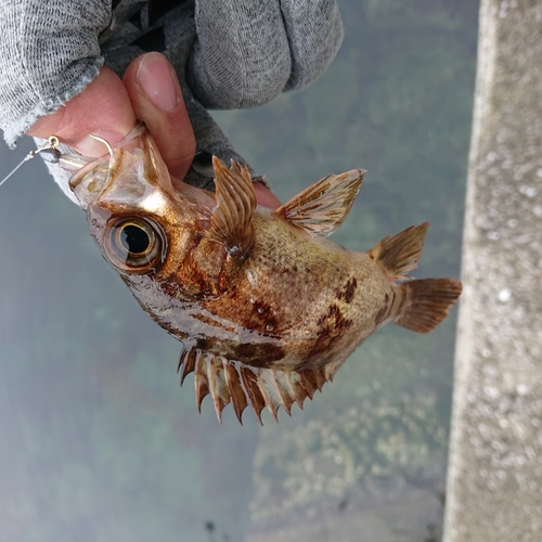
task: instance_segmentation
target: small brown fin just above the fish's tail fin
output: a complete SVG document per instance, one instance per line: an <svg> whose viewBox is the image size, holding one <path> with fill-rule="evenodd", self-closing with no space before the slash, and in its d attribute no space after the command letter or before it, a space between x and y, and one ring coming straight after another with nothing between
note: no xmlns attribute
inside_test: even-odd
<svg viewBox="0 0 542 542"><path fill-rule="evenodd" d="M424 248L429 222L411 225L397 235L388 235L377 243L369 256L389 275L390 281L409 279L409 271L416 269Z"/></svg>

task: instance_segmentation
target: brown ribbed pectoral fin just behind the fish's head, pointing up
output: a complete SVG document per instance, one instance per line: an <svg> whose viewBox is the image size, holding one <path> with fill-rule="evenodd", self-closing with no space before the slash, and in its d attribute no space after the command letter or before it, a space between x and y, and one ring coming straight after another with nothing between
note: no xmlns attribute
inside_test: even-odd
<svg viewBox="0 0 542 542"><path fill-rule="evenodd" d="M245 254L254 240L253 215L256 192L245 166L232 160L227 168L212 157L217 205L212 209L209 237L222 244L229 254Z"/></svg>

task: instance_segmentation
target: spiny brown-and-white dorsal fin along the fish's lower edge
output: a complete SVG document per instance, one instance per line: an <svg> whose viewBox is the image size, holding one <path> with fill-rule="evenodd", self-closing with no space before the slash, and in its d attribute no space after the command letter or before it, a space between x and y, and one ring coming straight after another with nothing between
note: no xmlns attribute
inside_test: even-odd
<svg viewBox="0 0 542 542"><path fill-rule="evenodd" d="M178 371L181 386L186 375L194 372L198 410L204 397L210 393L220 423L222 410L230 402L241 424L243 411L248 405L260 424L261 411L266 406L279 421L276 412L280 406L291 415L294 402L302 409L305 399L312 399L317 389L322 391L322 386L330 379L325 369L297 372L251 367L197 348L182 351Z"/></svg>

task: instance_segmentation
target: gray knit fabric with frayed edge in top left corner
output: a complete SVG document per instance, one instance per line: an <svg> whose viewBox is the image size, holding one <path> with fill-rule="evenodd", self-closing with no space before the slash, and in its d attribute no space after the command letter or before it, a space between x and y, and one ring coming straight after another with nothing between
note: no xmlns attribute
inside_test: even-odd
<svg viewBox="0 0 542 542"><path fill-rule="evenodd" d="M106 0L0 2L0 128L10 146L98 75L109 18Z"/></svg>

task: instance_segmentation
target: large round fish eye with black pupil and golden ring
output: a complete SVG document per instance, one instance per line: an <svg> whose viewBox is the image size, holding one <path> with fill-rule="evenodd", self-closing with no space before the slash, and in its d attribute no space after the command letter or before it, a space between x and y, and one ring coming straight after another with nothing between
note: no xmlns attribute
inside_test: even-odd
<svg viewBox="0 0 542 542"><path fill-rule="evenodd" d="M115 267L144 273L160 257L162 242L162 231L154 222L122 218L108 228L105 251Z"/></svg>

